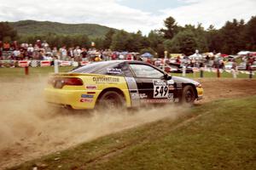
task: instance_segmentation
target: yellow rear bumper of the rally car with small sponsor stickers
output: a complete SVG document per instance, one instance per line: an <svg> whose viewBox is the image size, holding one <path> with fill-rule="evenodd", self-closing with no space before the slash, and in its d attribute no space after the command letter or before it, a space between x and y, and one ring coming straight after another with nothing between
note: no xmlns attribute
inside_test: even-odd
<svg viewBox="0 0 256 170"><path fill-rule="evenodd" d="M96 104L97 94L96 92L95 94L87 94L86 90L44 89L44 99L48 103L54 105L68 105L73 109L93 109Z"/></svg>

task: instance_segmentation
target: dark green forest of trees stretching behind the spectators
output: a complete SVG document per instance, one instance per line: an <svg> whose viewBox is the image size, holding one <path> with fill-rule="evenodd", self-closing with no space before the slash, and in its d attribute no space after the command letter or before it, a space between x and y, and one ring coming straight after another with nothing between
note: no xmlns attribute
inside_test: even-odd
<svg viewBox="0 0 256 170"><path fill-rule="evenodd" d="M105 34L104 31L100 31L97 36L92 37L83 32L78 33L81 31L75 29L76 27L73 26L72 31L75 33L69 32L68 29L65 30L66 33L60 33L49 28L44 32L38 31L40 33L27 30L30 33L26 34L19 33L19 30L16 30L15 26L9 22L0 22L0 41L17 40L34 43L40 39L47 41L51 47L66 45L84 48L91 48L91 42L95 42L97 49L149 52L158 57L163 57L165 50L170 54L186 55L194 54L195 49L198 49L200 53L222 54L236 54L241 50L256 51L256 16L252 16L247 22L236 19L226 21L224 26L218 29L214 26L204 28L201 24L179 26L177 21L170 16L164 20L162 28L150 31L146 36L142 31L127 32L109 28L108 31L105 29ZM81 27L78 26L77 29L81 30Z"/></svg>

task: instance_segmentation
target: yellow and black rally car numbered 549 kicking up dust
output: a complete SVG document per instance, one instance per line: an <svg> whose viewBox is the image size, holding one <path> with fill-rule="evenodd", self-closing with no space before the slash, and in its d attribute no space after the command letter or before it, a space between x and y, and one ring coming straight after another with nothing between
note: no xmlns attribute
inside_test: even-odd
<svg viewBox="0 0 256 170"><path fill-rule="evenodd" d="M111 60L54 74L44 90L49 103L73 109L193 103L202 99L199 82L172 77L143 61Z"/></svg>

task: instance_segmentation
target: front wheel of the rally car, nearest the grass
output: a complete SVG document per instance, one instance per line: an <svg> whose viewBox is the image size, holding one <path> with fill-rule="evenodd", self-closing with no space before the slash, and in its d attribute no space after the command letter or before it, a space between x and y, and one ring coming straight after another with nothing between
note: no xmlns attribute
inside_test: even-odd
<svg viewBox="0 0 256 170"><path fill-rule="evenodd" d="M195 101L195 90L192 86L187 85L183 88L183 95L181 99L182 104L193 105Z"/></svg>

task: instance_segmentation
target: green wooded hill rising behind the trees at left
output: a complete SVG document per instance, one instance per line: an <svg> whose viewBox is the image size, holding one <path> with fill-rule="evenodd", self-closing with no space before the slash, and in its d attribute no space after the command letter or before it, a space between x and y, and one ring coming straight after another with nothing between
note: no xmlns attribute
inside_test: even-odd
<svg viewBox="0 0 256 170"><path fill-rule="evenodd" d="M20 20L9 22L20 36L44 35L49 32L62 35L86 34L89 37L103 37L109 27L96 24L63 24L50 21Z"/></svg>

